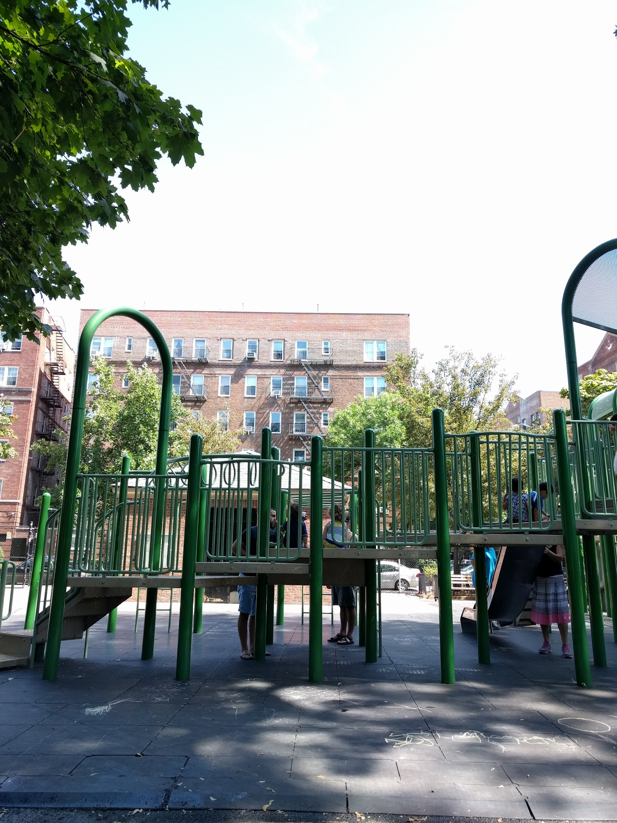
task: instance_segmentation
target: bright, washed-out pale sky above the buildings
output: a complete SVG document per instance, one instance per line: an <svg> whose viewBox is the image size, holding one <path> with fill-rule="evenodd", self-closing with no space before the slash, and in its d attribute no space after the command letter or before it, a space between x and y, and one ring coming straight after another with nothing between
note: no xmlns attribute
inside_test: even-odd
<svg viewBox="0 0 617 823"><path fill-rule="evenodd" d="M617 235L609 0L171 0L132 54L202 109L205 156L67 250L81 305L401 311L565 385L560 305ZM601 295L599 296L601 299ZM76 342L79 305L58 301ZM582 329L578 360L601 332Z"/></svg>

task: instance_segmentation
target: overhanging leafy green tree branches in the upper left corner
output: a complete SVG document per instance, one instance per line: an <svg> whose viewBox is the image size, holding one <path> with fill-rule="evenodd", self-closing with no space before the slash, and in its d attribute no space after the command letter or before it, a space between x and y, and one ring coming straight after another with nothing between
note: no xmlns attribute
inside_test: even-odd
<svg viewBox="0 0 617 823"><path fill-rule="evenodd" d="M132 0L145 7L167 0ZM63 247L128 219L118 191L192 167L202 113L128 57L127 0L0 0L0 302L8 337L49 332L35 295L78 299Z"/></svg>

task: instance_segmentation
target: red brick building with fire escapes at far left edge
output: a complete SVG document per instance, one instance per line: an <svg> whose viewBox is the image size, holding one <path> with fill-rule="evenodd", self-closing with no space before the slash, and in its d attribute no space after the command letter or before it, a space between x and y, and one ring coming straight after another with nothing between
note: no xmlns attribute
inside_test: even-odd
<svg viewBox="0 0 617 823"><path fill-rule="evenodd" d="M75 353L63 328L47 309L36 314L52 328L49 337L0 339L0 412L17 418L12 425L17 456L0 461L0 534L2 546L12 543L10 554L18 558L25 556L30 522L38 523L36 498L44 486L58 482L30 446L37 439L55 439L55 429L67 430L63 417L71 412L75 370Z"/></svg>

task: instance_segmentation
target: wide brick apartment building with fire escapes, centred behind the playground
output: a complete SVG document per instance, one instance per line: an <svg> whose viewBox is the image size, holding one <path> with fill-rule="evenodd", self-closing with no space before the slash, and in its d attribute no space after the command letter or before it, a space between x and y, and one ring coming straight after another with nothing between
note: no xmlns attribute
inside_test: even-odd
<svg viewBox="0 0 617 823"><path fill-rule="evenodd" d="M80 332L96 309L81 311ZM383 368L408 354L409 314L146 311L169 346L184 405L241 428L258 450L269 425L281 458L304 460L333 412L383 391ZM128 318L105 320L93 355L109 358L123 384L128 360L160 370L154 341Z"/></svg>

